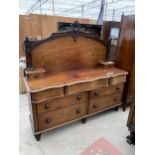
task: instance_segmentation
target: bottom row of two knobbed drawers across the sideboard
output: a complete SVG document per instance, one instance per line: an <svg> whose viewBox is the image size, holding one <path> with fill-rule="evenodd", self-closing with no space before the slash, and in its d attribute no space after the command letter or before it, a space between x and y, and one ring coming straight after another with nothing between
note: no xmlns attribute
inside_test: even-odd
<svg viewBox="0 0 155 155"><path fill-rule="evenodd" d="M91 99L89 104L87 102L80 102L58 110L39 114L39 130L45 130L110 106L118 105L121 102L121 97L122 93L116 93L110 96Z"/></svg>

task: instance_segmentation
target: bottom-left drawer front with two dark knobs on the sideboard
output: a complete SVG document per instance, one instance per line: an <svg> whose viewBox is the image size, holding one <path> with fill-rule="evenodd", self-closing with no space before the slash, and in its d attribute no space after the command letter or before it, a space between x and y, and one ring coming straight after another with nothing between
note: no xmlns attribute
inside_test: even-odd
<svg viewBox="0 0 155 155"><path fill-rule="evenodd" d="M39 130L45 130L59 124L86 115L86 104L78 103L72 106L38 115Z"/></svg>

